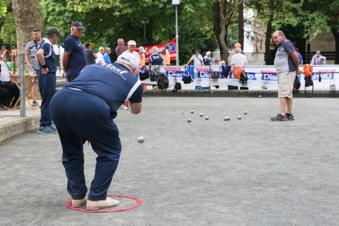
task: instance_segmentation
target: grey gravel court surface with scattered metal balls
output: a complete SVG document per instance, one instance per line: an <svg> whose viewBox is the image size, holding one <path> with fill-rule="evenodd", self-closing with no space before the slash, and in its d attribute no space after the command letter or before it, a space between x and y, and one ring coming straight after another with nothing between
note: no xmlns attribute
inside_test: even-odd
<svg viewBox="0 0 339 226"><path fill-rule="evenodd" d="M57 135L34 130L3 141L0 225L336 225L338 99L294 101L289 122L269 120L278 98L152 97L139 115L119 110L123 150L109 194L143 200L124 212L64 206L70 197ZM87 186L95 157L85 145ZM120 201L119 208L134 204Z"/></svg>

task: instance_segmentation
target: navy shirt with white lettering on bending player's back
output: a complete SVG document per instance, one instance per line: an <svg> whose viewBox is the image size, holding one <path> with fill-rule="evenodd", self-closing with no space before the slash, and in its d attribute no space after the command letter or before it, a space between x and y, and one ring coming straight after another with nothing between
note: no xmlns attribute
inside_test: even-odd
<svg viewBox="0 0 339 226"><path fill-rule="evenodd" d="M125 100L142 102L140 80L120 63L87 65L75 80L64 87L78 88L102 98L110 107L112 119Z"/></svg>

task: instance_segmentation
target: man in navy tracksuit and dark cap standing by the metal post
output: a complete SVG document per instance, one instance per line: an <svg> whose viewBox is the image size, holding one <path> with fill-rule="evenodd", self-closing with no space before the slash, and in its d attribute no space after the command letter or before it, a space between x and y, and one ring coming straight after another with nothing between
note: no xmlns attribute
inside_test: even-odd
<svg viewBox="0 0 339 226"><path fill-rule="evenodd" d="M61 37L61 34L57 28L48 28L46 30L46 38L43 38L40 42L36 52L40 66L38 83L42 99L40 127L38 129L38 133L40 134L55 134L57 131L57 129L52 126L49 108L57 85L57 62L52 45L57 43L59 37Z"/></svg>

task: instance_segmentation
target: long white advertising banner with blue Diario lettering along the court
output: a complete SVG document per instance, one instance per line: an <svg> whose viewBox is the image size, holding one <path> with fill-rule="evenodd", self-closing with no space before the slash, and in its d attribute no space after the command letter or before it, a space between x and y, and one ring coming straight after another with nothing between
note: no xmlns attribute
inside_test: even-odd
<svg viewBox="0 0 339 226"><path fill-rule="evenodd" d="M149 66L146 66L146 68L149 69ZM303 67L300 66L299 69L302 71ZM219 73L219 79L211 78L213 72ZM164 73L169 78L169 85L181 83L185 89L194 89L195 86L207 87L209 85L219 85L221 87L227 85L242 86L239 84L238 79L234 79L233 68L228 77L225 78L219 66L195 66L194 76L192 76L193 82L190 84L182 82L182 77L185 76L185 66L161 66L160 73ZM278 89L277 72L273 65L245 66L245 73L248 76L248 85L246 87L251 90ZM321 76L321 82L319 82L319 75ZM299 74L299 80L301 83L300 89L304 89L304 74ZM331 80L332 83L339 84L339 65L313 65L312 80L314 90L330 90ZM156 84L156 82L151 82L149 79L141 82Z"/></svg>

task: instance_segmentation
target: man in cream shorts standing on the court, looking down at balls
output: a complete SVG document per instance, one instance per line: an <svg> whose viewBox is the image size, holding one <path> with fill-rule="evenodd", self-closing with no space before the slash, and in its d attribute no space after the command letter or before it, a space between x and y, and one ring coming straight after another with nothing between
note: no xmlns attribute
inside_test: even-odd
<svg viewBox="0 0 339 226"><path fill-rule="evenodd" d="M272 39L278 46L274 66L278 74L278 98L280 98L280 113L271 118L272 121L294 120L292 114L292 90L295 75L299 72L299 58L291 41L287 40L281 30L272 34ZM286 112L287 106L287 112Z"/></svg>

